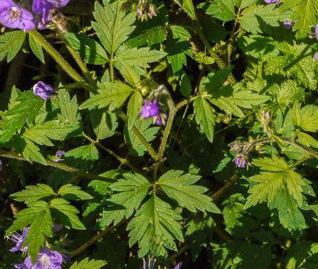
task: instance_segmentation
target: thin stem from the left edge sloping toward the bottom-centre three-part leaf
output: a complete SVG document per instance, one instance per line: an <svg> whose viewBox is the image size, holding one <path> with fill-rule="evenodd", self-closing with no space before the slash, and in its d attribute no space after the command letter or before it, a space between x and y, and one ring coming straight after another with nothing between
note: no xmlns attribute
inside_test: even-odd
<svg viewBox="0 0 318 269"><path fill-rule="evenodd" d="M13 152L8 152L5 150L0 150L0 156L12 158L12 159L18 159L21 161L28 161L26 158L22 157L22 155L19 155L17 153L13 153ZM71 166L67 166L66 164L55 162L55 161L52 161L50 159L46 159L46 163L48 163L49 166L53 166L53 167L59 168L61 170L66 170L68 172L73 172L73 173L77 174L79 177L86 177L87 179L97 179L100 181L106 181L106 182L111 182L111 183L114 183L117 181L116 179L111 179L109 177L99 177L97 175L92 175L90 173L82 172L80 170L77 170L76 168L72 168Z"/></svg>

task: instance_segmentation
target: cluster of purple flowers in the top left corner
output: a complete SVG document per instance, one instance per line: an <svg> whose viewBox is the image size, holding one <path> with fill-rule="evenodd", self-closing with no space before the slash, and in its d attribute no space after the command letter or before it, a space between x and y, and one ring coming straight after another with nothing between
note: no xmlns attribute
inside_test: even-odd
<svg viewBox="0 0 318 269"><path fill-rule="evenodd" d="M43 29L48 25L50 10L57 10L66 6L70 0L34 0L32 11L36 16L20 6L17 6L12 0L0 1L0 21L8 28L19 28L21 30Z"/></svg>

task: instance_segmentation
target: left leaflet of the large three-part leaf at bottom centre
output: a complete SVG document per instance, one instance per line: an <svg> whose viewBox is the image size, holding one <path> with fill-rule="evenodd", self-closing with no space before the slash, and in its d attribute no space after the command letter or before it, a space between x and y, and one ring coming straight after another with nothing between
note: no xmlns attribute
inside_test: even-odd
<svg viewBox="0 0 318 269"><path fill-rule="evenodd" d="M109 226L112 221L116 225L123 217L128 219L132 216L134 210L137 210L145 199L151 186L146 178L138 174L126 173L123 177L126 179L119 179L110 186L112 190L119 193L107 200L110 206L103 211L103 217L99 219L101 226Z"/></svg>

